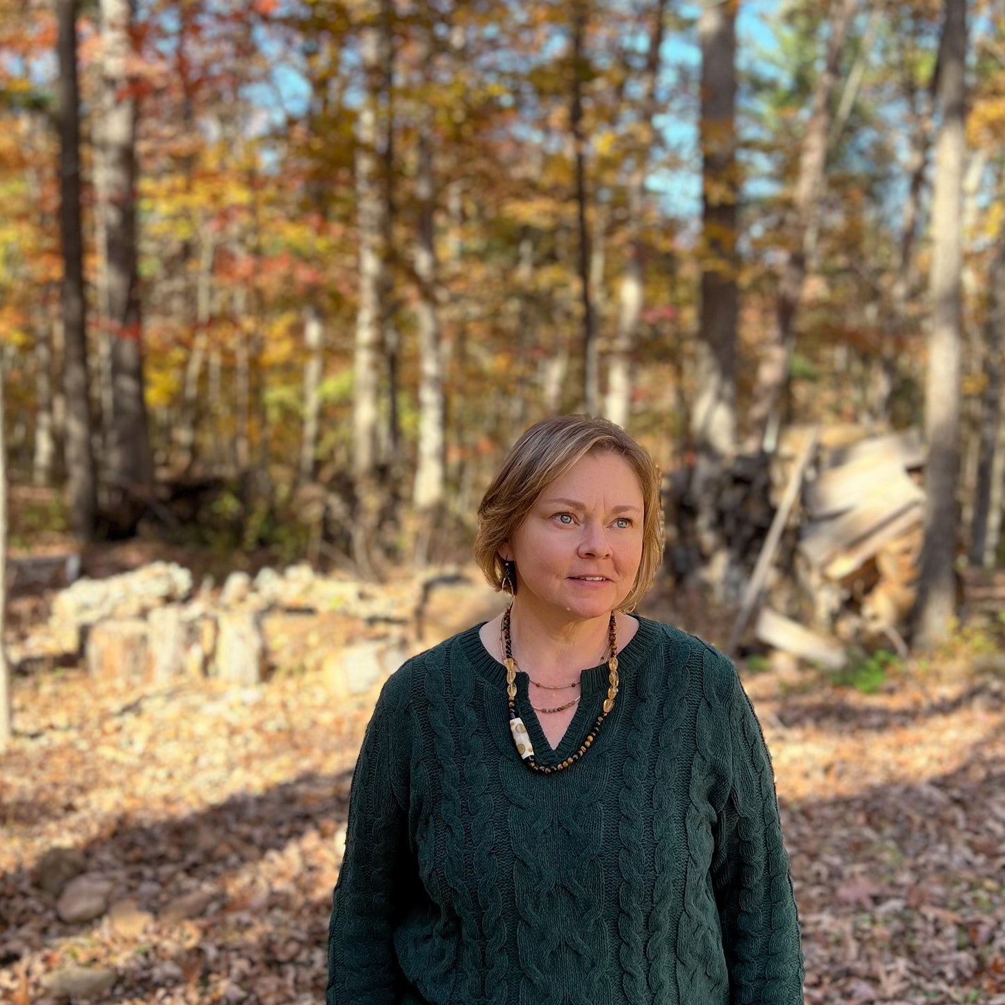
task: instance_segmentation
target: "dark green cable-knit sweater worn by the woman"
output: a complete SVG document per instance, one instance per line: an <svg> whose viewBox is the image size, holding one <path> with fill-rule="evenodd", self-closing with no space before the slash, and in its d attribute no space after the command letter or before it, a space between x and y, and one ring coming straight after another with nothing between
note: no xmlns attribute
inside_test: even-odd
<svg viewBox="0 0 1005 1005"><path fill-rule="evenodd" d="M774 778L733 664L640 618L593 746L537 775L510 735L506 671L471 628L385 684L353 779L327 1005L802 1002ZM541 763L554 757L518 674Z"/></svg>

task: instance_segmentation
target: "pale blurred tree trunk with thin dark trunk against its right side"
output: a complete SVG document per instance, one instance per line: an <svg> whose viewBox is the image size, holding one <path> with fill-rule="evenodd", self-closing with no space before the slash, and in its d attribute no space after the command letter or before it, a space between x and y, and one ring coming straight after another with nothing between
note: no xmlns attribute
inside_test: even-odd
<svg viewBox="0 0 1005 1005"><path fill-rule="evenodd" d="M377 138L381 80L381 35L377 25L360 32L366 94L356 146L359 228L359 307L356 315L353 386L353 472L358 482L373 478L377 465L381 291L384 285L384 202L378 178Z"/></svg>

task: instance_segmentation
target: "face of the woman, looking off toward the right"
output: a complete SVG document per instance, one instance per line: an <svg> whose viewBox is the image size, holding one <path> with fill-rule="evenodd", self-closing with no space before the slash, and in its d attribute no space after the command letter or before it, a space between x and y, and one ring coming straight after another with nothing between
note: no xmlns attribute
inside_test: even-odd
<svg viewBox="0 0 1005 1005"><path fill-rule="evenodd" d="M499 549L517 564L521 607L550 621L606 617L642 561L642 488L616 453L587 454L538 497Z"/></svg>

